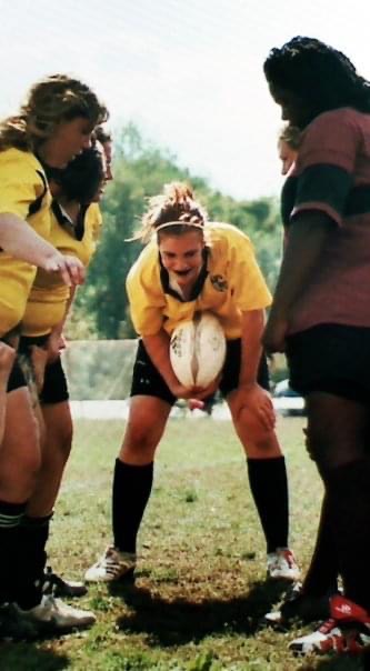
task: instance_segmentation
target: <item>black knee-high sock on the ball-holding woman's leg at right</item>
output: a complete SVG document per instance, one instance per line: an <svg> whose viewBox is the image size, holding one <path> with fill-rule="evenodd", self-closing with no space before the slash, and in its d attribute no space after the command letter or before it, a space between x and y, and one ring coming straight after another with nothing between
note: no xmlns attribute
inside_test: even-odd
<svg viewBox="0 0 370 671"><path fill-rule="evenodd" d="M261 520L267 551L288 545L289 500L286 460L247 459L249 484Z"/></svg>

